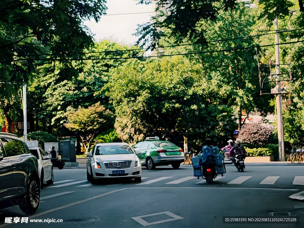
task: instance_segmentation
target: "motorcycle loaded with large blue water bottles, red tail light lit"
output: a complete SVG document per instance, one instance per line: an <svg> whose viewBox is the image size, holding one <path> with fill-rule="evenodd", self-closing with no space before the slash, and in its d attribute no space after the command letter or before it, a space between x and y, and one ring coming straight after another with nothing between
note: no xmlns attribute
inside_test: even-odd
<svg viewBox="0 0 304 228"><path fill-rule="evenodd" d="M192 158L194 176L201 176L207 183L211 184L217 175L226 173L223 164L223 156L219 154L218 147L203 147L198 156Z"/></svg>

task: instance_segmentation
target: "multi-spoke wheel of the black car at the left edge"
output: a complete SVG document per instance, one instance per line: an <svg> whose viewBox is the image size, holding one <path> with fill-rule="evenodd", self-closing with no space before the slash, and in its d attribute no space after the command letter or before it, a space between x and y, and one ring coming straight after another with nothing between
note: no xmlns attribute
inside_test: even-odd
<svg viewBox="0 0 304 228"><path fill-rule="evenodd" d="M39 179L38 179L39 180ZM40 189L36 178L32 178L27 186L25 199L21 200L19 207L26 214L33 214L40 202Z"/></svg>

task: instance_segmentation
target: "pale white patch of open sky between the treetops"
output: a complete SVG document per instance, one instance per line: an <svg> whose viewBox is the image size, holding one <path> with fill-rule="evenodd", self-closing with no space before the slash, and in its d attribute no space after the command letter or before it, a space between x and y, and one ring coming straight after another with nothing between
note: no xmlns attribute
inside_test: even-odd
<svg viewBox="0 0 304 228"><path fill-rule="evenodd" d="M108 0L106 4L108 7L107 15L102 16L98 23L93 19L85 21L84 24L95 34L96 41L111 38L118 43L132 45L138 39L138 37L132 36L137 25L149 22L150 17L155 15L155 13L142 13L154 12L154 3L136 5L137 3L137 0ZM126 13L137 14L113 15Z"/></svg>

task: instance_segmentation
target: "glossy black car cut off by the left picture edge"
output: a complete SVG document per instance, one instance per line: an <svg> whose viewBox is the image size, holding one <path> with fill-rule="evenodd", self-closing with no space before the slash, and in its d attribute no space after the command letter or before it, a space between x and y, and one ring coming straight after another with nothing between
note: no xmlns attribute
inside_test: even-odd
<svg viewBox="0 0 304 228"><path fill-rule="evenodd" d="M16 135L0 132L0 209L34 213L40 202L38 161Z"/></svg>

